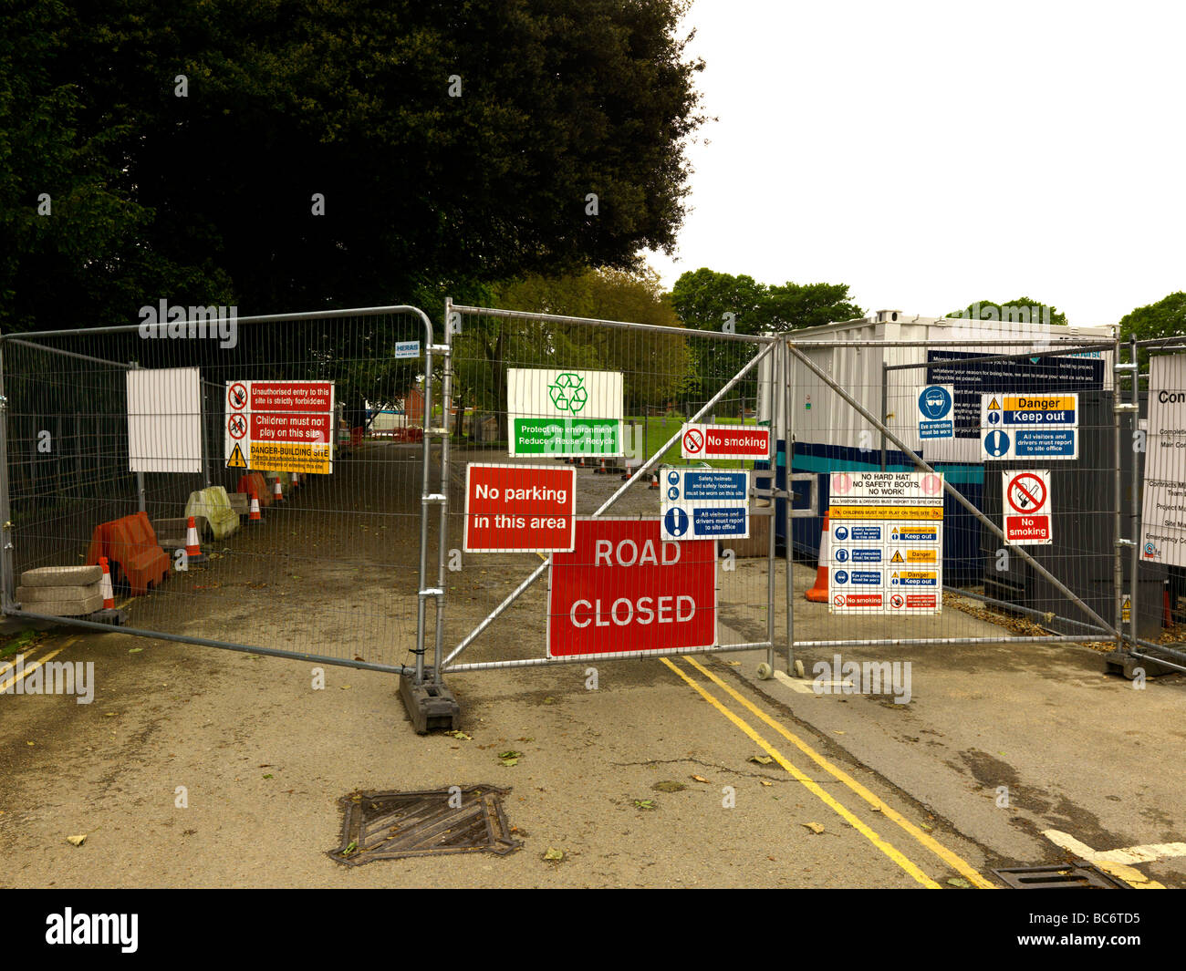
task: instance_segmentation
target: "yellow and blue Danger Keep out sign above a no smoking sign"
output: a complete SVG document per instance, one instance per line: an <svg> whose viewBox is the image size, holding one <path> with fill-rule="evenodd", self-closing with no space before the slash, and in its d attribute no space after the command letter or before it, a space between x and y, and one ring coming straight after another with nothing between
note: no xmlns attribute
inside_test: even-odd
<svg viewBox="0 0 1186 971"><path fill-rule="evenodd" d="M981 460L1079 458L1079 396L981 395Z"/></svg>

